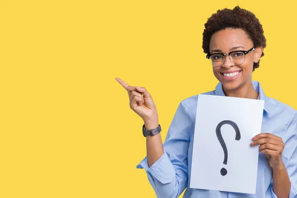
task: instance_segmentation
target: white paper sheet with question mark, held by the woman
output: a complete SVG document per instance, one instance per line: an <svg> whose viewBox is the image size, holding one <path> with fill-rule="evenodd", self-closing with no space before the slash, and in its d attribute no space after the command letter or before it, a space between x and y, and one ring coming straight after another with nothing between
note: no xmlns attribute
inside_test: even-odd
<svg viewBox="0 0 297 198"><path fill-rule="evenodd" d="M198 96L190 188L255 194L258 147L249 144L261 132L263 107L263 100Z"/></svg>

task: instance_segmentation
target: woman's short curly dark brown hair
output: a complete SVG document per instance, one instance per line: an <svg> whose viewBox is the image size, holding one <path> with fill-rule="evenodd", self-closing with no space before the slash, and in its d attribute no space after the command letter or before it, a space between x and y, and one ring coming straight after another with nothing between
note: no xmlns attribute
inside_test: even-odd
<svg viewBox="0 0 297 198"><path fill-rule="evenodd" d="M203 31L202 48L204 53L209 53L209 42L211 36L218 32L219 30L224 30L226 28L240 28L243 29L255 47L262 46L263 49L266 47L266 39L264 36L264 31L262 25L256 16L239 6L233 9L222 9L218 10L216 13L212 14L207 22L204 24L205 29ZM264 55L262 52L261 56ZM253 70L259 67L259 61L253 64Z"/></svg>

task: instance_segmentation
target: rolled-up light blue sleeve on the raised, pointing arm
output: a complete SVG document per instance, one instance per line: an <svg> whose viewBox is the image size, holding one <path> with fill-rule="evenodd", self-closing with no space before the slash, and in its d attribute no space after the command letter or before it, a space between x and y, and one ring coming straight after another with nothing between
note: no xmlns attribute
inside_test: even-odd
<svg viewBox="0 0 297 198"><path fill-rule="evenodd" d="M146 170L157 198L177 198L187 187L189 129L188 110L182 101L167 131L162 156L150 167L147 157L137 165Z"/></svg>

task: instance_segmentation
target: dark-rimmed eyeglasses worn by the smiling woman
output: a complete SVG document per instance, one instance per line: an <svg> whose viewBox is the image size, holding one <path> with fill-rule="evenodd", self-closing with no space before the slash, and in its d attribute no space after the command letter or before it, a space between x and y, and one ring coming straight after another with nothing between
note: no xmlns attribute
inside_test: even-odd
<svg viewBox="0 0 297 198"><path fill-rule="evenodd" d="M255 47L252 47L252 49L249 49L247 51L244 50L237 50L237 51L231 51L229 53L211 53L207 54L206 58L209 59L210 64L213 67L220 67L225 62L225 56L229 55L229 58L231 62L235 65L243 64L246 60L246 54L254 50Z"/></svg>

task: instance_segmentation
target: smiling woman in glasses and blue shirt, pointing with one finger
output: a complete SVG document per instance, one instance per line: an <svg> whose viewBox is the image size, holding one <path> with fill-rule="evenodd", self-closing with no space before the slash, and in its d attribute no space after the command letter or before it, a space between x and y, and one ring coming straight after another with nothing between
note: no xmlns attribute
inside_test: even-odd
<svg viewBox="0 0 297 198"><path fill-rule="evenodd" d="M180 102L162 144L158 114L145 88L128 86L130 107L144 120L147 157L137 166L147 171L158 198L295 198L297 197L296 110L268 98L251 74L259 67L266 40L253 13L240 8L218 10L205 23L202 48L219 80L214 91L204 94L264 100L262 131L251 137L259 147L256 194L190 189L197 96ZM267 158L266 158L267 157Z"/></svg>

